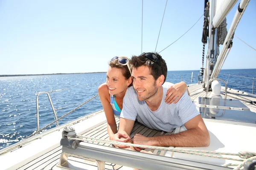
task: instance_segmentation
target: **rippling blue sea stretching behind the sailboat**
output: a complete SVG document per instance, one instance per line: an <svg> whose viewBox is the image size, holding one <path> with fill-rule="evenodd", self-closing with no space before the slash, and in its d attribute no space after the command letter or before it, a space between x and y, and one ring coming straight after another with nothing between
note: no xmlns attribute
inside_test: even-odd
<svg viewBox="0 0 256 170"><path fill-rule="evenodd" d="M195 78L192 83L198 82L198 77L196 77L198 72L193 71ZM187 84L191 84L191 74L192 71L168 71L166 81L177 83L182 79ZM256 78L256 69L222 70L221 74ZM227 81L228 77L219 75L218 78ZM97 88L105 80L106 73L0 77L0 149L19 142L37 130L35 114L38 92L66 89L50 93L59 118L98 94ZM249 93L252 93L252 85L253 79L230 76L228 81L228 87ZM39 107L40 128L42 128L55 120L46 94L39 96ZM59 124L101 109L102 105L97 96L61 119ZM53 124L50 128L55 126L56 124Z"/></svg>

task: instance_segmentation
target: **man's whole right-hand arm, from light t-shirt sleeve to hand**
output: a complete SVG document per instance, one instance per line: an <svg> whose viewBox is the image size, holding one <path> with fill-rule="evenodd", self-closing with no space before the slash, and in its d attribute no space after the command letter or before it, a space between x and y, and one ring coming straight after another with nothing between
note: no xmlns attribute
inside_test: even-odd
<svg viewBox="0 0 256 170"><path fill-rule="evenodd" d="M173 146L173 147L205 147L209 146L209 132L204 121L193 105L188 94L183 94L177 102L177 114L186 127L186 131L173 135L164 135L158 137L145 138L140 135L134 136L134 143L156 146ZM144 142L143 142L144 141Z"/></svg>

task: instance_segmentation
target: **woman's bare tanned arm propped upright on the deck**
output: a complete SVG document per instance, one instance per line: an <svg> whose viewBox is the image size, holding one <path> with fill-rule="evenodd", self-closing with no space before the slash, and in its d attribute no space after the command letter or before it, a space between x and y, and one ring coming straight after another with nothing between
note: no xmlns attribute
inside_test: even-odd
<svg viewBox="0 0 256 170"><path fill-rule="evenodd" d="M108 86L106 85L106 83L103 83L102 85L99 86L98 93L99 93L99 99L102 103L102 106L105 112L105 116L108 121L107 130L108 130L109 138L111 140L111 136L117 132L117 126L116 126L116 119L113 113L113 109L109 101L110 94L108 93Z"/></svg>

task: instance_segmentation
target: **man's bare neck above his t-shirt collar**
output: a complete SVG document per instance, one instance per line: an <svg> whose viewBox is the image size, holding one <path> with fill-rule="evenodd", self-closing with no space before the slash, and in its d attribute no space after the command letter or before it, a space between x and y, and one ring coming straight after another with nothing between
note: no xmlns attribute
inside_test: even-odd
<svg viewBox="0 0 256 170"><path fill-rule="evenodd" d="M160 86L157 90L157 93L151 96L150 98L146 99L145 102L148 105L148 107L151 109L151 111L157 111L157 109L161 105L162 99L163 99L163 87Z"/></svg>

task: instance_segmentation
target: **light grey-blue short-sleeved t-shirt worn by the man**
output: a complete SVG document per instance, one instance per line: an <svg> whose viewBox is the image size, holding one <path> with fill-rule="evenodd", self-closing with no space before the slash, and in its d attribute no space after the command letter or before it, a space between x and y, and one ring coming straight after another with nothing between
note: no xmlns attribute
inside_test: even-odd
<svg viewBox="0 0 256 170"><path fill-rule="evenodd" d="M172 132L199 114L187 92L176 104L166 104L164 99L168 88L163 87L163 98L157 111L151 111L145 101L140 101L137 92L131 86L127 89L123 99L120 117L130 120L137 118L138 122L155 129Z"/></svg>

